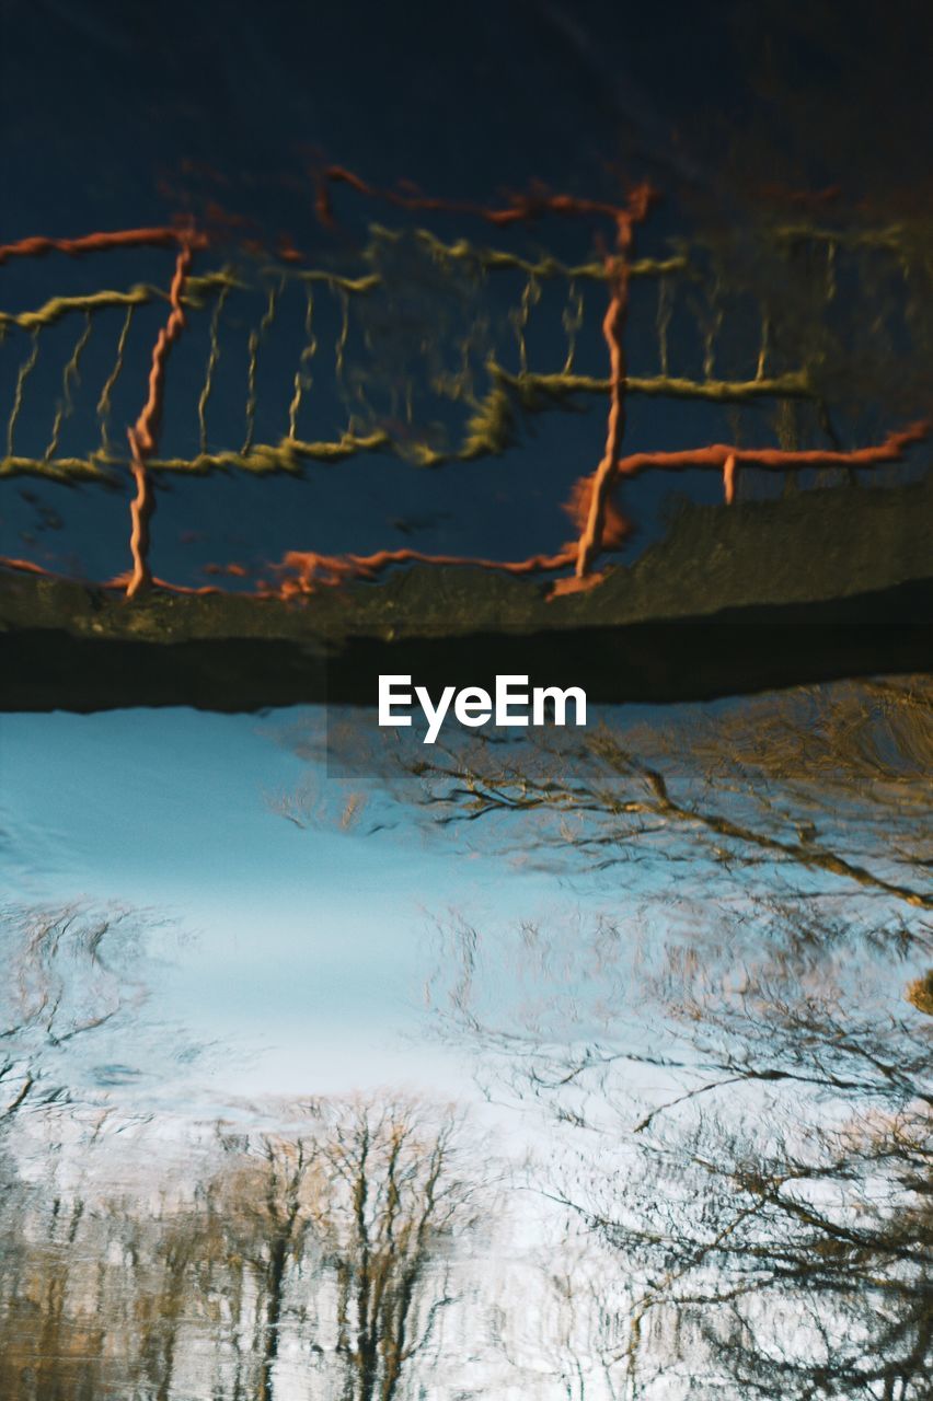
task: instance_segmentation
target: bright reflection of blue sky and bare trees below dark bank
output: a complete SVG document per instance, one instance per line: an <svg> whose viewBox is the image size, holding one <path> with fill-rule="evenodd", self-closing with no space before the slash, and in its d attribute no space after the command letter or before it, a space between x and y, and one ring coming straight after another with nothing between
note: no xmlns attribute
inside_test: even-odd
<svg viewBox="0 0 933 1401"><path fill-rule="evenodd" d="M6 724L4 1398L929 1395L929 685Z"/></svg>

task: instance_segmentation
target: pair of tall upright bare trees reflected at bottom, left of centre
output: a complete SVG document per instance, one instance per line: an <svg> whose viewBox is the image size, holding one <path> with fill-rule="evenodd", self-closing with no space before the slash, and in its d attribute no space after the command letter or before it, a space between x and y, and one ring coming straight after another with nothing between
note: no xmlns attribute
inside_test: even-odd
<svg viewBox="0 0 933 1401"><path fill-rule="evenodd" d="M255 1394L273 1394L291 1309L317 1355L339 1365L340 1394L391 1401L433 1344L454 1297L448 1252L475 1224L462 1126L452 1112L431 1122L424 1105L392 1098L315 1101L304 1112L307 1136L226 1136L228 1163L210 1188L256 1300ZM315 1290L300 1302L308 1271Z"/></svg>

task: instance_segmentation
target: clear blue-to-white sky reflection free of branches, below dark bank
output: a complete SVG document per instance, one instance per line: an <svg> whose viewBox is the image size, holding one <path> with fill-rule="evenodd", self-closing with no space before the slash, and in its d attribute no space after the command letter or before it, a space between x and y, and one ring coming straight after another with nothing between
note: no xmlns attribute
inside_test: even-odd
<svg viewBox="0 0 933 1401"><path fill-rule="evenodd" d="M196 710L0 720L8 899L113 901L161 927L147 1016L227 1051L237 1093L336 1093L387 1079L466 1093L468 1068L410 1041L424 1020L433 916L539 905L553 880L495 855L431 848L412 828L301 831L270 800L308 782L283 723ZM324 789L339 793L324 765ZM256 1058L256 1051L262 1055ZM178 1093L178 1087L175 1089Z"/></svg>

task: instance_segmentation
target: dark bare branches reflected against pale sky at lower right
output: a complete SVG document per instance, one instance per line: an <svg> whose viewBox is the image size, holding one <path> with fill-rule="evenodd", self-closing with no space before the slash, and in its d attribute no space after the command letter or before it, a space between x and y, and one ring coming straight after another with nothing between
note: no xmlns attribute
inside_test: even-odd
<svg viewBox="0 0 933 1401"><path fill-rule="evenodd" d="M756 932L740 961L727 943L668 948L632 998L637 953L614 961L605 926L546 947L525 929L538 996L525 976L507 1017L488 992L500 968L459 927L444 1026L583 1135L539 1185L632 1290L621 1395L913 1401L933 1362L929 975L905 989L888 940L871 955L813 911L803 927L793 906L758 911ZM584 975L604 1003L588 1041Z"/></svg>

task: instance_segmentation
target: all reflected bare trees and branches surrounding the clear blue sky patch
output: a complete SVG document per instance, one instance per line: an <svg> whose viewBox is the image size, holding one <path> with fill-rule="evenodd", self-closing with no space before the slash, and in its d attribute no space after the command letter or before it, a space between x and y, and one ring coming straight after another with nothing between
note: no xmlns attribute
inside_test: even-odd
<svg viewBox="0 0 933 1401"><path fill-rule="evenodd" d="M566 883L433 927L417 1044L469 1104L373 1065L170 1112L153 916L3 913L4 1401L930 1395L929 686L574 744L370 769Z"/></svg>

